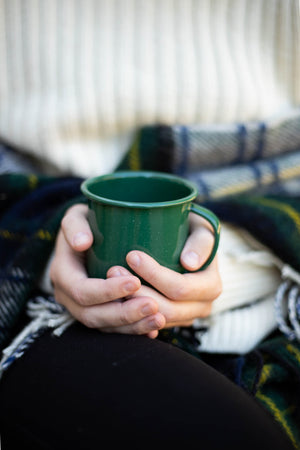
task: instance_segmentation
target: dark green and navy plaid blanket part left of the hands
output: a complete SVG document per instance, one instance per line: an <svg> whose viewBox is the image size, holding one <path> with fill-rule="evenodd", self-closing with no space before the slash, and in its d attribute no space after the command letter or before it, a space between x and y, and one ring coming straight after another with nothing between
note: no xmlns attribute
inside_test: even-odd
<svg viewBox="0 0 300 450"><path fill-rule="evenodd" d="M80 182L36 175L0 176L1 348L12 338L37 288L60 221L74 203Z"/></svg>

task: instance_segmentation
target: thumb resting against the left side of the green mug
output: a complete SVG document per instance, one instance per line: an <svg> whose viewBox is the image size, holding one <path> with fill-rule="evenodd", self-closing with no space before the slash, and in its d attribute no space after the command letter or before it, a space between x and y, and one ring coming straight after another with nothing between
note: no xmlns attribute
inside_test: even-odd
<svg viewBox="0 0 300 450"><path fill-rule="evenodd" d="M72 206L61 222L67 242L76 251L85 251L93 243L93 234L87 221L87 211L87 205Z"/></svg>

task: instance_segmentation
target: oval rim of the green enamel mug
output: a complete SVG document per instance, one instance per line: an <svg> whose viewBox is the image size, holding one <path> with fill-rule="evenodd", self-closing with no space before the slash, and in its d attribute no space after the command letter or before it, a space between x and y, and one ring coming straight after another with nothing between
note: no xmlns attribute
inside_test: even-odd
<svg viewBox="0 0 300 450"><path fill-rule="evenodd" d="M143 178L164 178L169 179L171 181L176 181L178 184L181 184L185 187L188 187L190 189L190 194L186 195L185 197L181 197L174 200L168 200L168 201L162 201L162 202L130 202L130 201L124 201L124 200L113 200L106 197L102 197L100 195L93 194L90 191L90 186L94 183L97 183L101 180L109 180L109 179L118 179L118 178L137 178L137 177L143 177ZM198 189L197 186L191 182L190 180L187 180L185 178L182 178L180 176L165 173L165 172L158 172L158 171L148 171L148 170L122 170L122 171L116 171L107 173L104 175L99 176L93 176L89 177L86 180L84 180L80 185L81 192L90 200L93 200L97 203L104 203L106 205L111 206L119 206L119 207L127 207L127 208L161 208L161 207L167 207L167 206L176 206L180 204L187 203L189 201L194 200L198 195Z"/></svg>

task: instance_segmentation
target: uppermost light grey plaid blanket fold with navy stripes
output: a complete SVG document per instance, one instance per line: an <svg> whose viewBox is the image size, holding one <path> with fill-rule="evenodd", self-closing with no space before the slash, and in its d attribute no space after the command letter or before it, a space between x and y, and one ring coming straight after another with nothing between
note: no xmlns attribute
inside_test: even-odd
<svg viewBox="0 0 300 450"><path fill-rule="evenodd" d="M177 172L241 164L299 150L300 110L266 122L172 127Z"/></svg>

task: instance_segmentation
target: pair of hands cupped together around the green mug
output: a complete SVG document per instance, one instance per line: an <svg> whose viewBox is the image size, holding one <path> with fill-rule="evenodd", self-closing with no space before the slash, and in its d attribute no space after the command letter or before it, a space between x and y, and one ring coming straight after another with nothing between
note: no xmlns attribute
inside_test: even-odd
<svg viewBox="0 0 300 450"><path fill-rule="evenodd" d="M130 252L129 266L155 289L141 286L124 267L112 267L106 280L88 278L84 252L93 237L86 213L85 205L74 206L66 213L51 265L55 297L77 320L106 332L155 338L166 326L188 325L196 317L209 315L211 302L221 289L216 258L205 271L182 275L160 266L145 253ZM191 215L191 235L181 255L182 265L190 271L198 270L212 244L210 226ZM136 257L140 258L139 265Z"/></svg>

